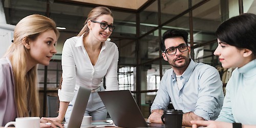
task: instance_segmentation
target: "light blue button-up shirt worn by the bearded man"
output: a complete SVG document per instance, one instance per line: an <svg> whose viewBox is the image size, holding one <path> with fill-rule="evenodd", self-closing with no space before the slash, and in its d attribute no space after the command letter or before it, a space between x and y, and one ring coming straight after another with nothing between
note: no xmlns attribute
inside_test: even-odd
<svg viewBox="0 0 256 128"><path fill-rule="evenodd" d="M165 110L172 101L176 110L194 112L205 120L215 120L224 99L223 84L217 69L191 59L180 78L183 83L181 90L178 89L176 78L173 69L164 73L151 110Z"/></svg>

